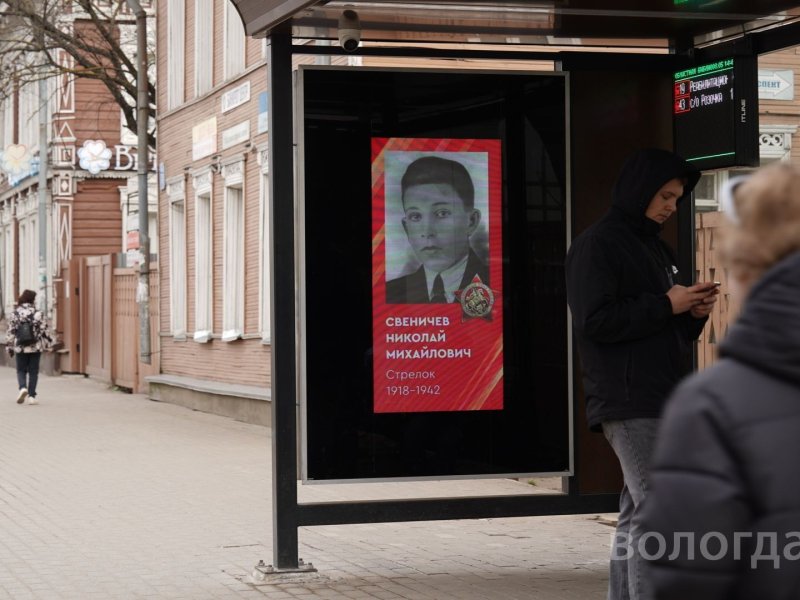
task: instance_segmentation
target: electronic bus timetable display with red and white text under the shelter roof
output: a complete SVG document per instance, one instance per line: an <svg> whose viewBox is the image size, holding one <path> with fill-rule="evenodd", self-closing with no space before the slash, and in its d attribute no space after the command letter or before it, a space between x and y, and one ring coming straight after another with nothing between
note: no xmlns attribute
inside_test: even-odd
<svg viewBox="0 0 800 600"><path fill-rule="evenodd" d="M676 72L675 151L701 170L758 166L757 73L752 57Z"/></svg>

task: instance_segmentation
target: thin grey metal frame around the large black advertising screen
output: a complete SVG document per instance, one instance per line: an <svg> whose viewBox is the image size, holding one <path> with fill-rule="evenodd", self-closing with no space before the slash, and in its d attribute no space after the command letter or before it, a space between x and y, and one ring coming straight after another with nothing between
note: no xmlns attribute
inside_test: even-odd
<svg viewBox="0 0 800 600"><path fill-rule="evenodd" d="M346 72L384 72L384 73L442 73L464 75L465 69L442 69L442 68L395 68L395 67L351 67L339 65L299 65L294 72L294 138L295 138L295 289L296 289L296 308L297 323L295 331L297 336L296 344L296 364L297 364L297 396L298 396L298 462L300 469L300 481L304 485L326 485L342 483L391 483L391 482L413 482L413 481L447 481L447 480L473 480L473 479L522 479L529 477L572 477L575 475L575 367L574 367L574 344L572 315L569 307L564 305L566 315L566 388L567 388L567 448L568 448L568 469L563 471L543 471L543 472L510 472L510 473L475 473L469 475L433 475L433 476L403 476L403 477L368 477L368 478L347 478L347 479L315 479L308 476L308 388L307 388L307 345L308 331L306 324L306 311L308 308L306 294L306 193L305 193L305 94L304 94L304 74L309 71L346 71ZM508 75L508 76L547 76L562 77L564 79L564 152L565 152L565 212L564 212L564 242L568 250L572 243L572 160L571 160L571 121L570 121L570 78L566 71L522 71L522 70L502 70L491 71L486 69L469 69L471 75Z"/></svg>

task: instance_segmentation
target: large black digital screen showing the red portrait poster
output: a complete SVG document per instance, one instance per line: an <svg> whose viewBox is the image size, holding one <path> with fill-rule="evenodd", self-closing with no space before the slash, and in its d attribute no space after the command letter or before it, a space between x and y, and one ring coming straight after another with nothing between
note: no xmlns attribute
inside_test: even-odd
<svg viewBox="0 0 800 600"><path fill-rule="evenodd" d="M568 75L297 92L303 481L571 472Z"/></svg>

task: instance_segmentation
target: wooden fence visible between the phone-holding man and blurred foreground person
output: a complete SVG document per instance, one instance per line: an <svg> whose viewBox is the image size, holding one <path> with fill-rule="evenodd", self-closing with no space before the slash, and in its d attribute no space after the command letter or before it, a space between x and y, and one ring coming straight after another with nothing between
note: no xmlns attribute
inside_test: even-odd
<svg viewBox="0 0 800 600"><path fill-rule="evenodd" d="M699 213L696 219L697 281L719 281L719 299L709 317L709 322L700 336L697 348L697 368L711 366L717 360L717 346L727 335L728 327L739 313L740 305L730 293L728 271L719 263L716 243L723 214L720 212Z"/></svg>

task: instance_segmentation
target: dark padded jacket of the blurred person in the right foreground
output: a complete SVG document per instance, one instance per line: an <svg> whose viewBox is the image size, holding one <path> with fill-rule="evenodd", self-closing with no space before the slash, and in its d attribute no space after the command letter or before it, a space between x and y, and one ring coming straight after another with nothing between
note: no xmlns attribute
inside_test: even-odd
<svg viewBox="0 0 800 600"><path fill-rule="evenodd" d="M646 531L667 541L693 532L686 545L650 565L657 597L675 600L800 598L800 253L781 261L753 288L713 367L683 383L670 399L644 503ZM700 541L725 536L728 552L704 558ZM741 532L739 561L734 532ZM758 534L776 533L755 561ZM752 534L752 535L747 535ZM716 537L716 535L714 536ZM710 539L710 538L709 538ZM765 540L766 541L766 538ZM787 545L794 546L786 548ZM706 554L718 553L712 542ZM657 550L651 548L651 555Z"/></svg>

